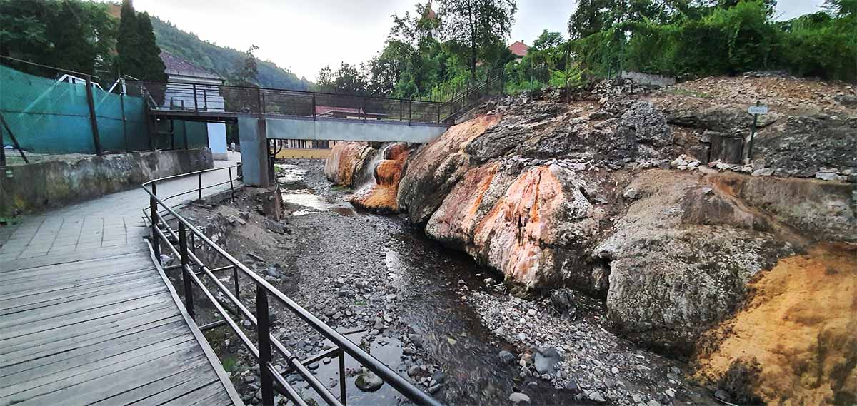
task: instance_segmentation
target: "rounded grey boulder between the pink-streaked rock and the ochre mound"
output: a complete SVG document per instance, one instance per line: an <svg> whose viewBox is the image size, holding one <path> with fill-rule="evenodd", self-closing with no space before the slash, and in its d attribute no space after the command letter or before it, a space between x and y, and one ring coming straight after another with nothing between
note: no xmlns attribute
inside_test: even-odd
<svg viewBox="0 0 857 406"><path fill-rule="evenodd" d="M774 220L718 183L648 170L628 186L638 200L594 253L609 268L609 318L627 337L689 355L743 300L754 275L792 254Z"/></svg>

